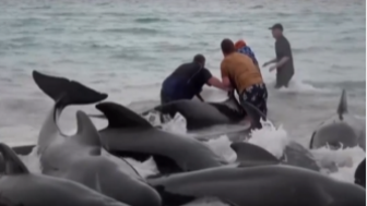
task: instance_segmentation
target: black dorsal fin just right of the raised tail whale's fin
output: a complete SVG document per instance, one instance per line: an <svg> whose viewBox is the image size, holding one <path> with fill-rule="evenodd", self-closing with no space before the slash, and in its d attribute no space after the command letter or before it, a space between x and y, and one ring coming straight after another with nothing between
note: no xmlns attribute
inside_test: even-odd
<svg viewBox="0 0 367 206"><path fill-rule="evenodd" d="M116 102L100 102L96 109L107 118L108 128L153 128L144 118Z"/></svg>

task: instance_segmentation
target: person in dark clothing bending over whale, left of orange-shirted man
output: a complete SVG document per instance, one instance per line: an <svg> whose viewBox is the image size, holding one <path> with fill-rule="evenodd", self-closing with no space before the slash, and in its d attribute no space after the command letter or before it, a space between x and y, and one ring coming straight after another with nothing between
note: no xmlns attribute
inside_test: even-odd
<svg viewBox="0 0 367 206"><path fill-rule="evenodd" d="M205 57L203 54L197 54L193 57L192 62L183 63L178 66L162 84L161 104L163 105L180 99L191 99L193 96L204 101L200 96L204 84L228 90L227 87L204 66Z"/></svg>

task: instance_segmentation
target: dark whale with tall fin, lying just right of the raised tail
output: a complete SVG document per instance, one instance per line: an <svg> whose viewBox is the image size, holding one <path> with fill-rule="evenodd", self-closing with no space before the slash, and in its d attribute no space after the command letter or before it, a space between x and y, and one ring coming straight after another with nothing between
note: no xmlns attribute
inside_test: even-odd
<svg viewBox="0 0 367 206"><path fill-rule="evenodd" d="M104 147L116 156L139 160L153 156L162 173L200 170L225 162L204 143L156 129L119 104L100 102L96 109L108 121L107 128L99 131Z"/></svg>

